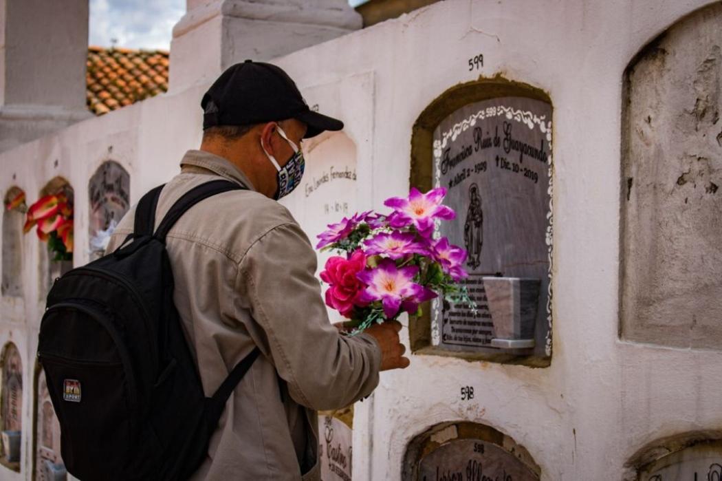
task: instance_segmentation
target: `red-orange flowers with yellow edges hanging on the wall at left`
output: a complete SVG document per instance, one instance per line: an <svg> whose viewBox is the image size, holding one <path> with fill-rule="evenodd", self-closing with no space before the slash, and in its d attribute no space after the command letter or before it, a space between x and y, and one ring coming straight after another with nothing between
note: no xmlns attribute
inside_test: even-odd
<svg viewBox="0 0 722 481"><path fill-rule="evenodd" d="M27 209L23 231L35 226L40 241L54 253L53 261L73 259L73 208L65 194L43 196Z"/></svg>

